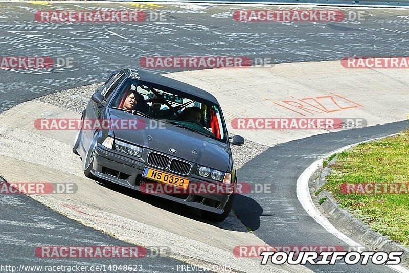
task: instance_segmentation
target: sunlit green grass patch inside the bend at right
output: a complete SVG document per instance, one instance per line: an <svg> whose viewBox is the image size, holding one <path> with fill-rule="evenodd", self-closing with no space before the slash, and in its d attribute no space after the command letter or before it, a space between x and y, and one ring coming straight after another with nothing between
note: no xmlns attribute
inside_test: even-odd
<svg viewBox="0 0 409 273"><path fill-rule="evenodd" d="M409 131L359 144L337 156L323 188L373 230L409 247L409 194L339 192L342 183L409 183Z"/></svg>

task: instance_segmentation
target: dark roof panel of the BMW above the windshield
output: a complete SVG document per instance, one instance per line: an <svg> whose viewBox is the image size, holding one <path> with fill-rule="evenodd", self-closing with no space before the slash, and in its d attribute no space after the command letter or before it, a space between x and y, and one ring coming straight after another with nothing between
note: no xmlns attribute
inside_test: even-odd
<svg viewBox="0 0 409 273"><path fill-rule="evenodd" d="M204 99L219 105L218 101L212 94L193 85L140 69L128 69L128 74L128 78L139 79L141 81L163 85L165 87L178 91L180 95L187 95L188 97L190 96Z"/></svg>

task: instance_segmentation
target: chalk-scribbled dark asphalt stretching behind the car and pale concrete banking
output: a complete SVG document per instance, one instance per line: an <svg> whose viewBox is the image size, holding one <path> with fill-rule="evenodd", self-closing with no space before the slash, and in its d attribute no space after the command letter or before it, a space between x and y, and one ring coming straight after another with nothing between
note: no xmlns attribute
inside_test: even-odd
<svg viewBox="0 0 409 273"><path fill-rule="evenodd" d="M145 56L244 56L288 63L339 60L346 56L406 56L409 52L409 10L404 9L340 8L347 13L364 12L364 21L249 24L233 20L233 11L259 9L259 6L195 5L187 8L183 4L159 3L132 6L124 3L39 5L7 2L0 5L0 56L74 58L74 67L70 69L2 70L0 112L42 95L103 81L115 69L138 66L139 59ZM40 23L34 19L37 10L61 9L138 9L147 12L148 17L164 11L166 21L105 24ZM175 71L154 70L156 73Z"/></svg>

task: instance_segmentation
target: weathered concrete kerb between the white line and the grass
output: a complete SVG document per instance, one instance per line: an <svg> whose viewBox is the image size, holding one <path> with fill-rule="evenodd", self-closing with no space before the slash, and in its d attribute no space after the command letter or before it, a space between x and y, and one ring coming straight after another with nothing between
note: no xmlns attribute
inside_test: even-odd
<svg viewBox="0 0 409 273"><path fill-rule="evenodd" d="M356 146L360 143L354 144L353 146ZM336 160L337 156L335 156L328 163L328 165L334 164ZM315 190L315 192L319 191L322 188L322 186L325 185L326 183L325 178L331 173L331 168L323 167L321 170L319 170L319 173L320 173L319 177L317 177L314 180L313 189ZM349 213L347 209L339 207L339 203L335 201L335 199L332 197L332 194L327 190L322 190L317 195L317 197L319 198L319 200L325 198L319 209L322 209L328 215L331 215L339 226L342 226L344 229L348 230L351 234L359 238L365 244L369 245L370 248L375 251L384 251L388 253L391 251L403 252L401 256L401 265L404 265L405 267L409 268L409 248L392 241L388 236L381 235L380 233L372 230L371 227L369 227L367 224L363 223L361 220L355 218L351 213Z"/></svg>

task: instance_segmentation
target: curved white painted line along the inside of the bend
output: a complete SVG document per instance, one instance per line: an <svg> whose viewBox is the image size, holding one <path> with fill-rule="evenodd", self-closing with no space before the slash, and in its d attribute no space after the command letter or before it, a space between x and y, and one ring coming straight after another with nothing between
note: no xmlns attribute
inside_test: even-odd
<svg viewBox="0 0 409 273"><path fill-rule="evenodd" d="M304 172L298 177L297 179L297 198L300 201L301 205L303 206L304 210L317 222L319 223L322 227L324 227L325 230L327 230L329 233L333 234L334 236L338 237L339 239L343 240L345 243L347 243L350 246L361 246L342 232L338 231L335 226L333 226L327 218L325 218L320 211L317 209L315 206L314 202L312 201L311 195L310 195L310 190L308 188L308 181L311 177L311 175L323 164L323 161L325 158L329 157L330 155L334 153L340 153L343 152L349 148L352 148L358 144L369 142L369 141L374 141L386 137L391 137L392 135L397 135L397 134L391 134L387 135L385 137L381 138L375 138L375 139L370 139L366 141L361 141L355 144L351 144L345 147L342 147L338 150L335 150L333 152L330 152L326 156L320 158L319 160L314 161L307 169L304 170ZM397 272L402 272L402 273L409 273L409 270L406 268L403 268L400 265L386 265L389 268L397 271Z"/></svg>

